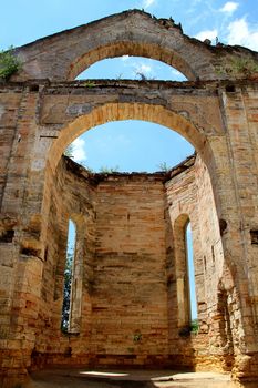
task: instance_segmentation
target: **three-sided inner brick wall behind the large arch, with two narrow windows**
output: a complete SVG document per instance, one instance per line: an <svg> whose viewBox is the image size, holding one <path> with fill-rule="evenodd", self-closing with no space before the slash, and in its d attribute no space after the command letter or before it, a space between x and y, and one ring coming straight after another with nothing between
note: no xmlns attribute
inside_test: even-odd
<svg viewBox="0 0 258 388"><path fill-rule="evenodd" d="M221 252L214 252L210 241L202 241L207 234L200 231L206 227L213 241L219 232L207 169L200 159L194 161L172 178L164 174L96 174L93 178L72 161L61 160L51 191L33 367L44 363L224 367L223 353L213 351L207 325L208 308L216 309L217 300L206 290L217 285L213 275ZM190 316L188 295L183 297L185 305L179 304L178 279L184 277L186 294L188 280L186 251L179 254L175 224L185 214L193 229L198 335L182 333L189 327ZM79 272L73 287L81 282L76 290L81 303L72 306L78 326L63 334L69 218L78 229ZM185 247L184 228L180 232ZM207 246L210 257L205 264ZM205 283L204 270L210 267ZM213 337L218 338L219 333Z"/></svg>

